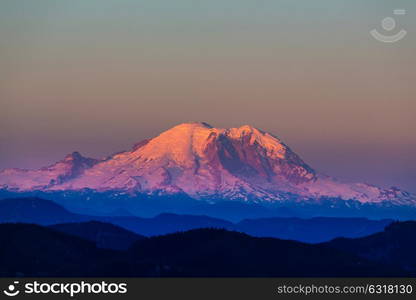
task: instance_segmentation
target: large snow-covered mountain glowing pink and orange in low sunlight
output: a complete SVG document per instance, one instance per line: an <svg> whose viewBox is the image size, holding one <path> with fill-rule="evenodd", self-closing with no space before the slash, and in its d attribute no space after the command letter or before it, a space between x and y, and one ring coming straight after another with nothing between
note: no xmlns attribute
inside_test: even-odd
<svg viewBox="0 0 416 300"><path fill-rule="evenodd" d="M319 174L278 137L253 126L224 129L205 122L176 125L105 160L74 152L39 170L3 170L0 187L186 194L257 203L340 198L416 206L414 195L397 188L341 183Z"/></svg>

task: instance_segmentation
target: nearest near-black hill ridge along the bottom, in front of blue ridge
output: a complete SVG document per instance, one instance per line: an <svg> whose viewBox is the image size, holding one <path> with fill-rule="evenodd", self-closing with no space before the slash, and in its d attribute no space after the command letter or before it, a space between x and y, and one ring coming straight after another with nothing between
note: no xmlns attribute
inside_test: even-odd
<svg viewBox="0 0 416 300"><path fill-rule="evenodd" d="M82 229L83 225L76 225ZM394 224L399 236L416 223ZM71 229L72 231L72 229ZM78 234L77 234L78 235ZM388 230L379 243L388 244ZM111 238L111 237L110 237ZM398 239L401 241L401 239ZM349 243L351 242L351 243ZM255 238L224 229L194 229L142 238L127 250L98 248L94 242L34 224L0 224L0 276L77 277L391 277L414 276L414 258L397 260L400 249L415 253L415 243L398 244L383 258L364 257L371 245L357 251L331 243L310 245L273 238ZM361 242L360 242L361 243ZM383 250L381 250L383 251ZM407 258L407 256L406 256ZM397 263L397 264L396 264ZM405 264L403 264L405 263ZM410 266L410 268L409 268Z"/></svg>

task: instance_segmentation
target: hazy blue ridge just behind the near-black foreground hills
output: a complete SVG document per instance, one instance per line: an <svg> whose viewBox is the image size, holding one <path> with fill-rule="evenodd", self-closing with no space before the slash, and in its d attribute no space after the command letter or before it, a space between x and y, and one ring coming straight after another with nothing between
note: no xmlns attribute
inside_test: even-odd
<svg viewBox="0 0 416 300"><path fill-rule="evenodd" d="M91 222L93 221L93 222ZM245 219L240 222L230 222L203 215L160 214L153 218L135 216L89 216L72 213L55 202L39 198L17 198L0 200L0 223L23 222L40 225L56 225L54 228L67 233L77 233L77 236L112 236L128 234L119 227L134 232L136 235L154 236L196 228L223 228L245 232L257 237L276 237L318 243L336 237L362 237L382 231L393 220L368 220L364 218L261 218ZM86 223L87 222L87 223ZM89 222L89 223L88 223ZM112 227L109 223L117 225ZM83 230L76 224L83 223ZM129 241L139 236L130 236ZM91 239L88 237L88 239ZM94 240L94 239L93 239ZM99 242L99 241L97 241ZM125 248L124 243L116 243L117 247ZM123 246L122 246L123 245ZM128 243L127 243L128 245ZM104 246L104 247L108 247ZM116 248L117 248L116 247ZM109 247L114 248L114 247Z"/></svg>

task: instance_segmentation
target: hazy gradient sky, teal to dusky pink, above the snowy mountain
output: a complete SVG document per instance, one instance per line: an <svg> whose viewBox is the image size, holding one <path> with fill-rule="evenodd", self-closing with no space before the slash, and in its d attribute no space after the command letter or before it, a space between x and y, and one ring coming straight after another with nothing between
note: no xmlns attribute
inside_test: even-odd
<svg viewBox="0 0 416 300"><path fill-rule="evenodd" d="M0 169L204 121L416 192L415 15L414 0L2 0ZM408 31L395 44L369 35L388 16Z"/></svg>

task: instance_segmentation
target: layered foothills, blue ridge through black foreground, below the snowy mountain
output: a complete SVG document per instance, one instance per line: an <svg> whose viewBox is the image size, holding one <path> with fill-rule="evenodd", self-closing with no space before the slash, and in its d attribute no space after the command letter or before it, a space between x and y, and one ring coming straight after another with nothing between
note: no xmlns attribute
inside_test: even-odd
<svg viewBox="0 0 416 300"><path fill-rule="evenodd" d="M414 221L94 217L24 198L0 200L0 223L1 277L416 276ZM288 240L348 235L367 236Z"/></svg>

